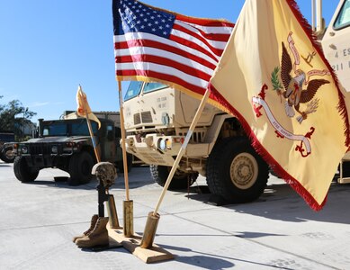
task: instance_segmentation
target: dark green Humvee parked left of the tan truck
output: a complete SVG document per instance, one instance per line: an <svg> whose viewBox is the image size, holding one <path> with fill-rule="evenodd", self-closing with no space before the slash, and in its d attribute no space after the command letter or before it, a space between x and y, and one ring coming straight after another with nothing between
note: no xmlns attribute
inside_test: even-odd
<svg viewBox="0 0 350 270"><path fill-rule="evenodd" d="M108 119L100 119L101 128L91 121L95 143L101 161L115 164L122 172L120 147L121 131ZM88 183L92 179L91 169L96 163L94 146L85 118L44 121L39 120L36 138L13 145L15 154L13 171L22 183L34 181L40 169L54 167L66 171L68 184ZM128 169L132 164L128 156Z"/></svg>

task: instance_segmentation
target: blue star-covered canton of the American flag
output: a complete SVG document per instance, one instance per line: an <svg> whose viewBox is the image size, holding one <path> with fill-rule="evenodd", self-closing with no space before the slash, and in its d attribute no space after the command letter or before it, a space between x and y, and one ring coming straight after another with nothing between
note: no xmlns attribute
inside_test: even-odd
<svg viewBox="0 0 350 270"><path fill-rule="evenodd" d="M120 0L122 30L126 32L147 32L168 38L173 28L175 15L154 10L132 0Z"/></svg>

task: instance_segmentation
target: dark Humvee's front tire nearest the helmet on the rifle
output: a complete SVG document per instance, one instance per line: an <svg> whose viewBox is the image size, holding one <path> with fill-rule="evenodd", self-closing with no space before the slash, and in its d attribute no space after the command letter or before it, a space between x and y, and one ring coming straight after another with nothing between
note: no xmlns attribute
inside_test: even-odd
<svg viewBox="0 0 350 270"><path fill-rule="evenodd" d="M70 157L69 175L67 183L69 185L79 185L89 183L93 177L91 170L94 166L94 158L88 152L81 152Z"/></svg>

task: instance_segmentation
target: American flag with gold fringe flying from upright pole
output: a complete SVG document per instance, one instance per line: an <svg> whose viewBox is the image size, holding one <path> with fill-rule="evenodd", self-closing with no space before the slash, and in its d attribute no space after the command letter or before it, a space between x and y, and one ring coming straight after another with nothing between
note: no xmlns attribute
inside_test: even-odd
<svg viewBox="0 0 350 270"><path fill-rule="evenodd" d="M118 80L155 80L203 94L234 24L113 0Z"/></svg>

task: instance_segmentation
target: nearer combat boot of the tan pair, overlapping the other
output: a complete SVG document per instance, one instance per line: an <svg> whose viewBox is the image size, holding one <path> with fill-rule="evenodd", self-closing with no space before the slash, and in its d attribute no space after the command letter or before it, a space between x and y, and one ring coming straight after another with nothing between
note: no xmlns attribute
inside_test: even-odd
<svg viewBox="0 0 350 270"><path fill-rule="evenodd" d="M109 218L98 218L94 229L86 235L84 238L76 239L77 247L96 247L96 246L108 246L109 237L108 230L106 228Z"/></svg>

